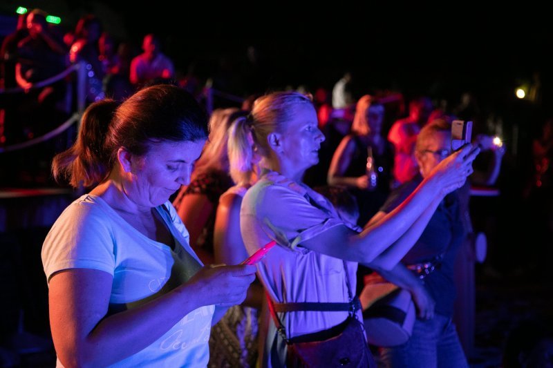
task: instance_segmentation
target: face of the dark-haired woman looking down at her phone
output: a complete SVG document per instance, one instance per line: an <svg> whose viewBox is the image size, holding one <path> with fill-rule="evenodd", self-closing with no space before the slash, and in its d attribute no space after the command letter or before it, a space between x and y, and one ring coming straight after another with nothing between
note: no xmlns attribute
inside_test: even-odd
<svg viewBox="0 0 553 368"><path fill-rule="evenodd" d="M189 184L204 144L205 140L151 144L146 155L131 159L131 180L124 183L126 195L143 207L167 202L181 185Z"/></svg>

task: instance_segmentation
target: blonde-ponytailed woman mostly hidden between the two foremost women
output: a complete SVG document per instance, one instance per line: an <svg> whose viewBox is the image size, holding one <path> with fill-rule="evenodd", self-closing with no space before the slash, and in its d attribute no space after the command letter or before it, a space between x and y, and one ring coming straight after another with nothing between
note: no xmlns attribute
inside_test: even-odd
<svg viewBox="0 0 553 368"><path fill-rule="evenodd" d="M253 144L252 126L246 116L229 127L228 162L236 185L219 198L214 227L216 263L240 264L247 251L240 234L240 206L246 191L257 180L259 155ZM236 146L239 143L240 146ZM258 357L259 311L263 287L253 282L241 305L230 307L212 329L209 340L209 367L255 367Z"/></svg>

